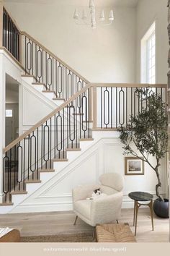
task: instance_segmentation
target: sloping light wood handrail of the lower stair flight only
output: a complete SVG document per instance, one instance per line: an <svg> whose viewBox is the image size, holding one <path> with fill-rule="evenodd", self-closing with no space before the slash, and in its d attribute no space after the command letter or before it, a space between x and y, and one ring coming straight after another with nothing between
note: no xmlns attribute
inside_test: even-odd
<svg viewBox="0 0 170 256"><path fill-rule="evenodd" d="M53 117L55 114L57 114L59 111L61 111L63 108L65 108L66 106L68 106L69 103L71 103L71 101L74 101L76 98L79 97L79 95L81 95L82 93L84 93L86 90L88 90L89 88L91 88L91 85L86 85L83 89L79 90L78 93L75 93L71 98L68 99L68 101L65 101L63 104L61 104L61 106L58 106L58 108L56 108L54 111L52 111L50 114L48 114L48 116L45 116L43 119L41 119L39 122L37 122L37 124L35 124L32 128L30 128L29 130L27 130L27 132L24 132L23 135L17 137L16 140L14 140L13 142L11 142L9 145L6 146L6 148L4 148L3 153L6 153L8 150L10 150L11 148L14 147L14 145L17 145L19 142L21 142L25 137L27 137L28 135L30 135L30 133L34 132L35 129L37 129L38 127L40 127L42 124L45 123L45 121L48 121L51 117Z"/></svg>

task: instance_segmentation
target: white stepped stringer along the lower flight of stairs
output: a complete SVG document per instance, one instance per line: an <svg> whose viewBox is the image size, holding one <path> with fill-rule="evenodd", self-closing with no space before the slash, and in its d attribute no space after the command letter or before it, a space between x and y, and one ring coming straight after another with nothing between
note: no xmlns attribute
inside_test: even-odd
<svg viewBox="0 0 170 256"><path fill-rule="evenodd" d="M55 182L56 182L56 177L57 179L60 179L60 176L66 175L68 172L67 168L69 165L73 166L74 162L84 153L86 153L89 148L91 148L93 145L95 145L99 140L102 138L108 138L108 137L118 137L118 132L97 132L93 131L92 132L94 140L83 140L80 141L80 151L68 151L67 152L67 158L68 161L61 161L61 162L54 162L53 163L53 168L55 169L54 172L40 172L40 183L31 183L31 184L26 184L26 190L27 194L26 195L12 195L12 202L14 203L13 205L3 205L0 207L0 213L5 214L5 213L18 213L18 207L19 205L22 206L22 202L24 203L25 200L27 200L28 197L30 197L33 193L38 191L40 187L45 185L47 182L53 182L53 178L55 177ZM66 171L67 168L67 171ZM21 211L20 211L21 212Z"/></svg>

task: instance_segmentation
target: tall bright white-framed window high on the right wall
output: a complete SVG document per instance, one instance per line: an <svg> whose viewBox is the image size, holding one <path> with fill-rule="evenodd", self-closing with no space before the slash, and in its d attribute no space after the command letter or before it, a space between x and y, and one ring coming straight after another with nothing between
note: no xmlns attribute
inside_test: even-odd
<svg viewBox="0 0 170 256"><path fill-rule="evenodd" d="M156 83L156 22L153 22L141 40L141 77L142 83Z"/></svg>

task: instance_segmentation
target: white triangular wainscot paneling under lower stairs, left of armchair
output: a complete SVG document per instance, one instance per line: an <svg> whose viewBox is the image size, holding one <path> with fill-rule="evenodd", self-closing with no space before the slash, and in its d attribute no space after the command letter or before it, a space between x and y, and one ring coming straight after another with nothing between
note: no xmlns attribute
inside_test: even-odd
<svg viewBox="0 0 170 256"><path fill-rule="evenodd" d="M99 180L99 150L86 152L61 173L57 174L21 205L12 210L19 212L72 210L73 187L96 184Z"/></svg>

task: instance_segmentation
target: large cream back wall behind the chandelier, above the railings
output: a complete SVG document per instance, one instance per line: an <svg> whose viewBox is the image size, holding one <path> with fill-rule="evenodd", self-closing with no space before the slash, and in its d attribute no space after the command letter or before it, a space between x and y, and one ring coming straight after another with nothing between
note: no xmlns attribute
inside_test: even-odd
<svg viewBox="0 0 170 256"><path fill-rule="evenodd" d="M6 2L5 6L21 30L30 33L90 82L134 82L135 8L113 6L114 24L92 30L74 23L77 6L69 5L69 1L68 5L47 2Z"/></svg>

